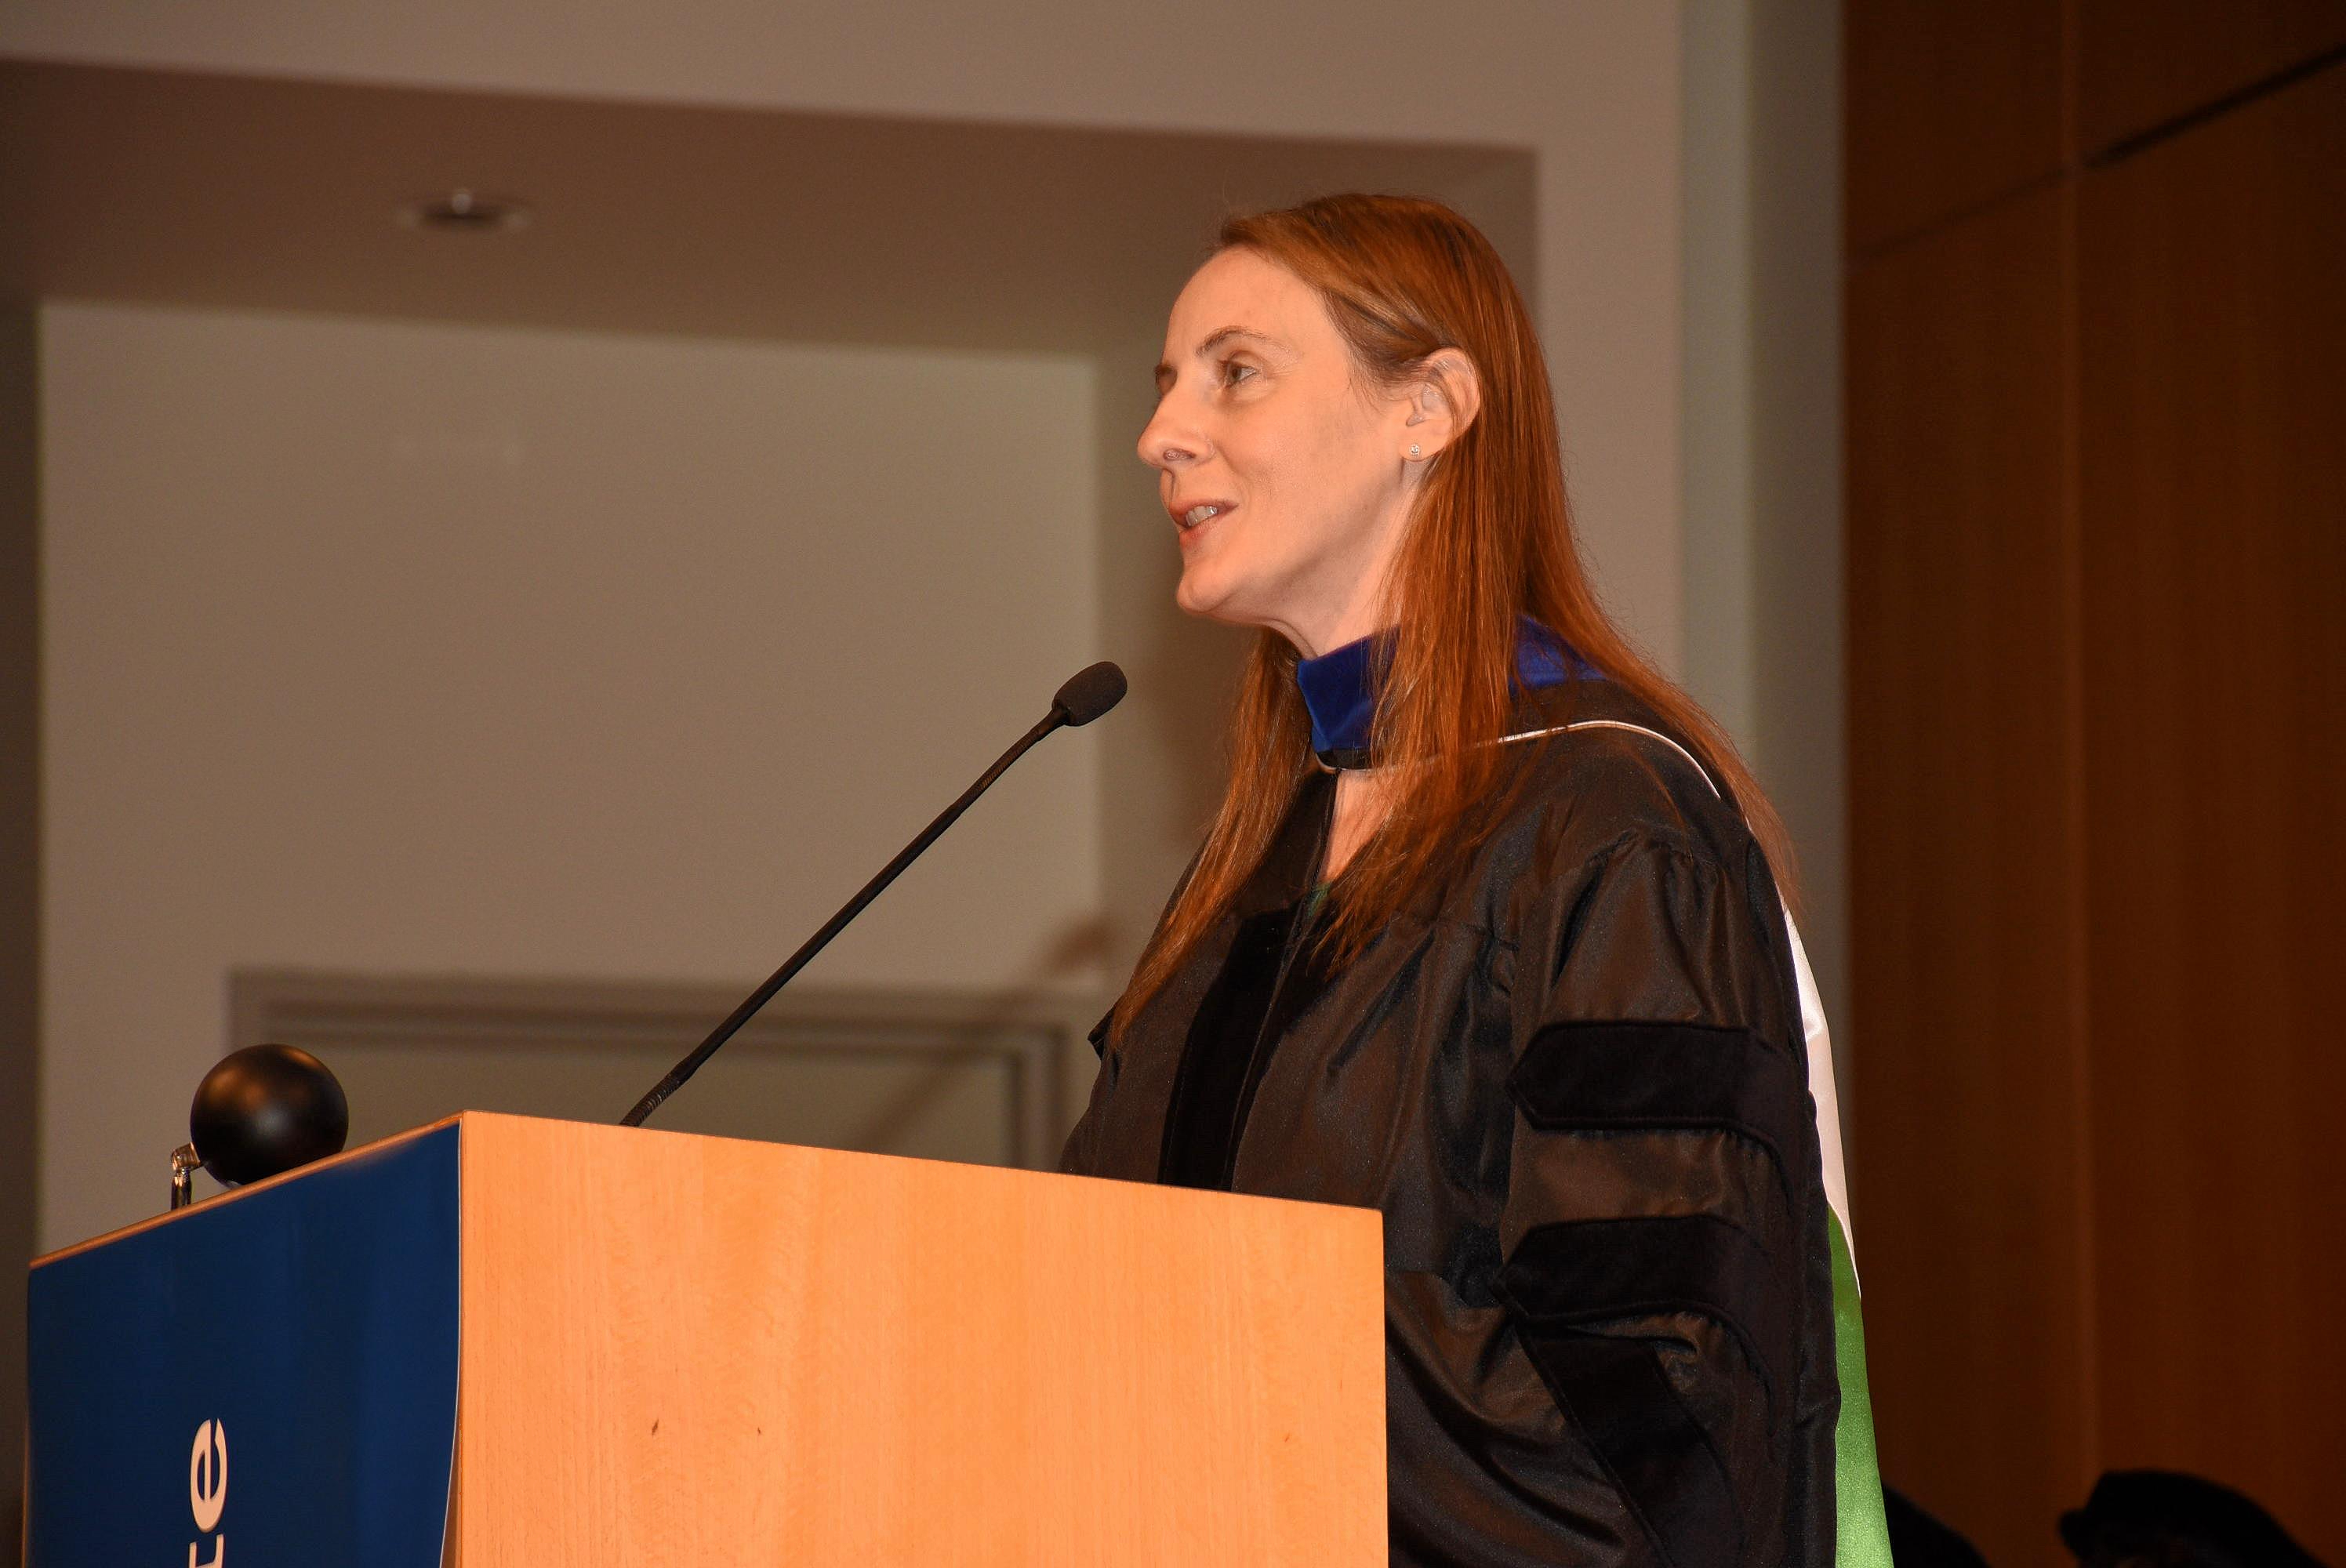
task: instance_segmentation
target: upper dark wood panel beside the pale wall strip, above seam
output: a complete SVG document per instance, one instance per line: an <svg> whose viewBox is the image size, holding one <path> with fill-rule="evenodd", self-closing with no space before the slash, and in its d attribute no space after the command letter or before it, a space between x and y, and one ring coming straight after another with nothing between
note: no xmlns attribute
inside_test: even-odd
<svg viewBox="0 0 2346 1568"><path fill-rule="evenodd" d="M2060 169L2060 12L2055 0L1849 0L1842 113L1853 254Z"/></svg>

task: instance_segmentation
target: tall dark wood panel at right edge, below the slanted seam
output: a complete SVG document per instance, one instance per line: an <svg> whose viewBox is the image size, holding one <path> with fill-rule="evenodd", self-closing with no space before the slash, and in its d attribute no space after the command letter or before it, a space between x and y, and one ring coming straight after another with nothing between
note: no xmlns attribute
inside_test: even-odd
<svg viewBox="0 0 2346 1568"><path fill-rule="evenodd" d="M2346 68L2086 176L2102 1448L2346 1559Z"/></svg>

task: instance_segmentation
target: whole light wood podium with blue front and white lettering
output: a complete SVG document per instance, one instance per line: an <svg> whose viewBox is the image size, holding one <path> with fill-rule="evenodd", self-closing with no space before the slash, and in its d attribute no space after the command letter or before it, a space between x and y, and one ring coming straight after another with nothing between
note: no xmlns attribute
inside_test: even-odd
<svg viewBox="0 0 2346 1568"><path fill-rule="evenodd" d="M33 1265L30 1561L408 1568L446 1476L462 1568L1382 1563L1382 1303L1365 1209L462 1115Z"/></svg>

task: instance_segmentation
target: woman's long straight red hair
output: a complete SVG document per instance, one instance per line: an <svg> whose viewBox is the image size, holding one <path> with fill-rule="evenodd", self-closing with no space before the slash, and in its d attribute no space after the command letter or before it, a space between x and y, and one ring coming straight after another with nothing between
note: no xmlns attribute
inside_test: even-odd
<svg viewBox="0 0 2346 1568"><path fill-rule="evenodd" d="M1370 765L1394 768L1384 824L1328 890L1328 946L1356 955L1415 899L1459 869L1487 831L1508 765L1516 617L1530 615L1595 669L1649 702L1729 789L1792 897L1783 819L1727 732L1654 669L1588 587L1565 505L1555 404L1532 317L1483 232L1415 197L1333 195L1234 216L1215 251L1246 246L1318 293L1358 369L1396 387L1436 350L1464 352L1483 406L1426 462L1386 584L1391 664L1377 692ZM1182 965L1262 861L1311 761L1295 648L1255 641L1229 721L1229 789L1189 880L1117 1005L1117 1028Z"/></svg>

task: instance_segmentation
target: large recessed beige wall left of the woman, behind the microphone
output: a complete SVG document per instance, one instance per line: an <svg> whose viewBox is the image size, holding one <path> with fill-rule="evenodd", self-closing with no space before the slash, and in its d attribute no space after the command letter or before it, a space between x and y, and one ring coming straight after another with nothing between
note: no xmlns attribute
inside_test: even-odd
<svg viewBox="0 0 2346 1568"><path fill-rule="evenodd" d="M160 1204L230 967L746 984L1098 641L1084 359L52 305L40 373L47 1244ZM1103 732L809 976L1098 986Z"/></svg>

